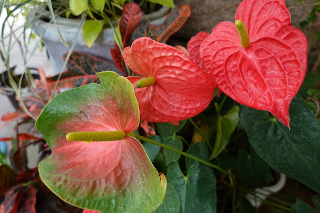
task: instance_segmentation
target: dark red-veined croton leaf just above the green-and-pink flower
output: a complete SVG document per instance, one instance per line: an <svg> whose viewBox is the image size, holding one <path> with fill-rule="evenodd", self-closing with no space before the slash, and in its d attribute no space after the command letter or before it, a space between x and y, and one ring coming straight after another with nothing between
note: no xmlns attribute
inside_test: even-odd
<svg viewBox="0 0 320 213"><path fill-rule="evenodd" d="M65 60L66 55L63 56ZM67 71L63 72L57 84L57 90L62 88L76 88L89 83L99 83L96 75L102 71L114 71L120 74L119 70L111 63L94 56L74 51L67 62ZM59 75L47 78L53 89Z"/></svg>

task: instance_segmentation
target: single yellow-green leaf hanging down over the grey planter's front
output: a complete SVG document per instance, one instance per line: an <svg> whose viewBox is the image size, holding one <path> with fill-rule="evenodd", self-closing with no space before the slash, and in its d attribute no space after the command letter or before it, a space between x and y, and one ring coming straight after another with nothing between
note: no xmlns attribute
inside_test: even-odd
<svg viewBox="0 0 320 213"><path fill-rule="evenodd" d="M96 20L87 20L82 27L82 38L90 48L102 30L103 24Z"/></svg>

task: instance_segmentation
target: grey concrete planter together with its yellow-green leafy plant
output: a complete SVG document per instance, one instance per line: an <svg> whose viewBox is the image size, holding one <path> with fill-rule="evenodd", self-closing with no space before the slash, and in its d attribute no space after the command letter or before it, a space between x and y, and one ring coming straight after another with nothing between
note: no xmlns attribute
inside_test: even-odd
<svg viewBox="0 0 320 213"><path fill-rule="evenodd" d="M115 30L121 14L132 15L126 21L129 24L134 22L135 25L131 26L133 30L139 24L140 19L142 22L148 21L154 25L162 24L170 7L173 8L172 0L143 0L139 5L130 2L93 0L88 3L88 0L55 0L52 1L53 12L56 16L54 19L51 16L51 10L46 5L33 10L28 19L34 31L47 46L54 69L51 75L61 72L64 67L62 55L70 49L113 62L110 49L115 48L117 40L121 40L122 44L121 34L116 33ZM164 6L161 7L160 4ZM157 10L152 12L155 9ZM146 14L147 12L151 13ZM82 21L81 18L83 18ZM78 36L79 32L82 36ZM114 39L115 33L116 40ZM74 42L76 44L73 48Z"/></svg>

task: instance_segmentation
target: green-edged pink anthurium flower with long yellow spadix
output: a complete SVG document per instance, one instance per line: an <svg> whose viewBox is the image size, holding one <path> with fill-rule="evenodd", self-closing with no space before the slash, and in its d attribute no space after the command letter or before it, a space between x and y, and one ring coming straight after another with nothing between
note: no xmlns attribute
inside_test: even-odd
<svg viewBox="0 0 320 213"><path fill-rule="evenodd" d="M127 135L140 119L133 86L114 72L97 75L101 84L58 94L38 117L36 128L52 150L39 163L40 177L80 208L150 212L161 203L167 182L141 143Z"/></svg>

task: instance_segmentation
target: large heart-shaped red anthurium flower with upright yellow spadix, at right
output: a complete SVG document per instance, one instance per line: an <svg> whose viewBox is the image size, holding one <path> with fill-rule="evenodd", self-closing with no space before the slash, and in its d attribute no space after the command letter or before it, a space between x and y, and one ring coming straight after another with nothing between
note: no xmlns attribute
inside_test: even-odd
<svg viewBox="0 0 320 213"><path fill-rule="evenodd" d="M244 0L235 23L221 22L200 46L205 70L235 101L289 126L289 106L306 73L307 39L284 0Z"/></svg>

